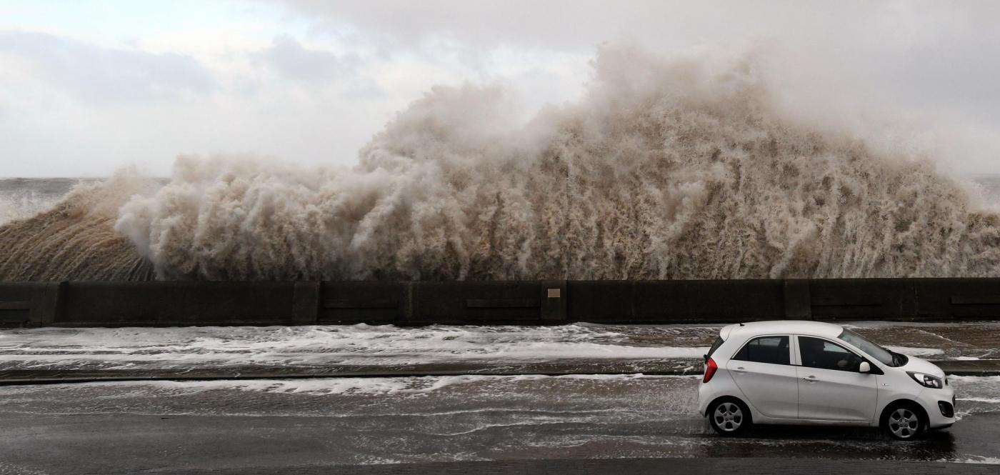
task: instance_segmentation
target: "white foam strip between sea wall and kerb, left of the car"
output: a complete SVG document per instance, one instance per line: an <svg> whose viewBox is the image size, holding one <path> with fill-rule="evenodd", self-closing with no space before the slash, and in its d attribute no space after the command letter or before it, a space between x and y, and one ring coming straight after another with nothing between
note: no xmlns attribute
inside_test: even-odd
<svg viewBox="0 0 1000 475"><path fill-rule="evenodd" d="M655 335L680 327L644 329ZM637 346L594 325L42 328L0 332L0 362L18 368L78 364L223 367L252 364L387 366L440 362L697 359L705 347ZM126 366L127 367L127 366Z"/></svg>

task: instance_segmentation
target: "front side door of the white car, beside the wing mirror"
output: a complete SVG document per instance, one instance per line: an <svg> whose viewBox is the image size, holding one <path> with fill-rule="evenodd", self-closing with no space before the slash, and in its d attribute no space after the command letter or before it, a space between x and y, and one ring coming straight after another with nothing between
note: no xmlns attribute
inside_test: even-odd
<svg viewBox="0 0 1000 475"><path fill-rule="evenodd" d="M864 358L831 340L797 336L799 418L870 422L878 398L876 378L858 368Z"/></svg>

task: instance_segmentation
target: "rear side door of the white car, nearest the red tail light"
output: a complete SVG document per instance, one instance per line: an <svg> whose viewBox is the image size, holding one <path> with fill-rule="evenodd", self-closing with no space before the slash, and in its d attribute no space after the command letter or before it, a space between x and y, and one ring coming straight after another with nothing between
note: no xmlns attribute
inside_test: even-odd
<svg viewBox="0 0 1000 475"><path fill-rule="evenodd" d="M761 414L795 419L798 413L798 374L791 364L790 335L751 338L726 363L736 385Z"/></svg>

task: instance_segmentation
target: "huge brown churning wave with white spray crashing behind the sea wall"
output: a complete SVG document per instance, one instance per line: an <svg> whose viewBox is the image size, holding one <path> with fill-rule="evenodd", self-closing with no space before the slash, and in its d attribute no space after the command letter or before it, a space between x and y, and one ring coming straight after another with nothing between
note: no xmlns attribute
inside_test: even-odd
<svg viewBox="0 0 1000 475"><path fill-rule="evenodd" d="M748 64L594 69L516 128L497 88L435 88L349 169L182 157L78 188L0 228L0 279L1000 275L964 185L789 119Z"/></svg>

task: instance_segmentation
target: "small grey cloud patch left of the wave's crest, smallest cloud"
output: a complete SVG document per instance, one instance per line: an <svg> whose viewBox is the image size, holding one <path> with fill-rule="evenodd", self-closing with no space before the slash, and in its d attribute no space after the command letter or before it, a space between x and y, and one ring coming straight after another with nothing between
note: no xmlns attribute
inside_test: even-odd
<svg viewBox="0 0 1000 475"><path fill-rule="evenodd" d="M307 49L287 35L276 37L270 48L254 54L253 59L285 77L304 81L344 78L353 73L359 62L354 56Z"/></svg>

